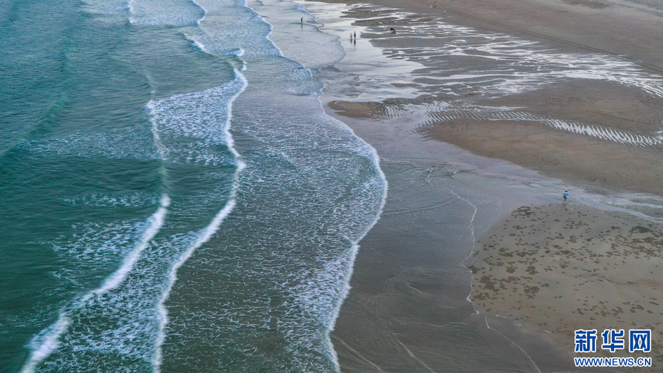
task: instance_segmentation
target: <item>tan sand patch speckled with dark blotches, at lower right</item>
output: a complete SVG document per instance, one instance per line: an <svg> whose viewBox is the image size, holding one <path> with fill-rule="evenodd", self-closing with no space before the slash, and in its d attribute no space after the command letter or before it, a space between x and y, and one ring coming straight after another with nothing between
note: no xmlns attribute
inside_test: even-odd
<svg viewBox="0 0 663 373"><path fill-rule="evenodd" d="M649 354L597 347L593 356L663 361L660 224L571 203L523 206L482 236L474 257L478 310L549 333L569 351L575 330L651 329Z"/></svg>

